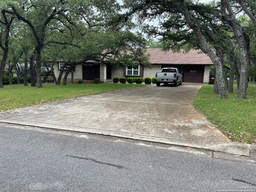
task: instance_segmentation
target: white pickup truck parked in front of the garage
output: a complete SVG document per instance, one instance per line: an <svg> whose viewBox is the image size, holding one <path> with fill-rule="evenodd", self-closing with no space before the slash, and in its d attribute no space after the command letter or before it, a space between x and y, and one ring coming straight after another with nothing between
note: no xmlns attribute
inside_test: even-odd
<svg viewBox="0 0 256 192"><path fill-rule="evenodd" d="M177 68L163 68L160 73L156 73L156 86L172 83L175 86L182 84L182 75Z"/></svg>

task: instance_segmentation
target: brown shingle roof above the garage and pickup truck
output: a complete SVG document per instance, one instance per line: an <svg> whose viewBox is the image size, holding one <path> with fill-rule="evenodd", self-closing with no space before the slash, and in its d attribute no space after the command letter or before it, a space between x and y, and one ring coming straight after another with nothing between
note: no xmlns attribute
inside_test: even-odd
<svg viewBox="0 0 256 192"><path fill-rule="evenodd" d="M162 51L161 49L147 49L150 54L150 62L153 64L175 64L175 65L213 65L207 54L201 50L190 50L187 53L180 51Z"/></svg>

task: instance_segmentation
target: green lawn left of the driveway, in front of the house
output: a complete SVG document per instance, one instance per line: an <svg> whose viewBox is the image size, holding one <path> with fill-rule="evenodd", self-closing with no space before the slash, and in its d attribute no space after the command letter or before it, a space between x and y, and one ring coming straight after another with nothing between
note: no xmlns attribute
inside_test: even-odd
<svg viewBox="0 0 256 192"><path fill-rule="evenodd" d="M140 84L43 84L42 89L24 85L5 85L0 89L0 111L61 99L143 86Z"/></svg>

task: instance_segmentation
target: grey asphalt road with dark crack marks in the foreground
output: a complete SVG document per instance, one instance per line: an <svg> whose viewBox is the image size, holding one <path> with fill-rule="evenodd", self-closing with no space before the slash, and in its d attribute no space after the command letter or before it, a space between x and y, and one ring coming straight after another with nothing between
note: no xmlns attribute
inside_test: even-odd
<svg viewBox="0 0 256 192"><path fill-rule="evenodd" d="M256 191L256 164L0 124L0 191Z"/></svg>

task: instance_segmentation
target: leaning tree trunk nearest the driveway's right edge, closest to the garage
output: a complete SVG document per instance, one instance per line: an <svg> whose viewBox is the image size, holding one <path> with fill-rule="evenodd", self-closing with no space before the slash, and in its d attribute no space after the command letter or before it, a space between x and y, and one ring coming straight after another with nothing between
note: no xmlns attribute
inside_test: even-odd
<svg viewBox="0 0 256 192"><path fill-rule="evenodd" d="M206 39L204 38L203 34L201 33L201 29L199 26L196 24L194 21L194 18L191 17L190 13L188 12L185 0L179 0L180 5L181 5L181 11L185 17L185 20L187 21L189 27L194 31L200 45L202 51L207 53L207 55L210 57L212 62L214 63L215 70L217 75L217 83L218 83L218 89L219 89L219 95L220 98L228 98L227 92L226 92L226 86L225 86L225 81L223 78L223 71L222 71L222 66L221 66L221 61L220 58L215 55L209 44L207 44Z"/></svg>

